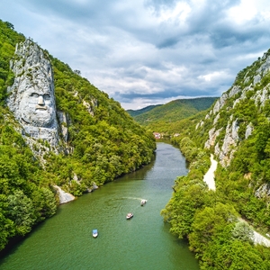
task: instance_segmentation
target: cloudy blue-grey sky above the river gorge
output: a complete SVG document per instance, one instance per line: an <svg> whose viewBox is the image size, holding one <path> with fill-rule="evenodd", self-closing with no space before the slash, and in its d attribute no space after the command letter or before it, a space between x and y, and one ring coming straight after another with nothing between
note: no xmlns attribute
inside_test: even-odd
<svg viewBox="0 0 270 270"><path fill-rule="evenodd" d="M1 0L0 19L126 110L220 96L270 49L269 0Z"/></svg>

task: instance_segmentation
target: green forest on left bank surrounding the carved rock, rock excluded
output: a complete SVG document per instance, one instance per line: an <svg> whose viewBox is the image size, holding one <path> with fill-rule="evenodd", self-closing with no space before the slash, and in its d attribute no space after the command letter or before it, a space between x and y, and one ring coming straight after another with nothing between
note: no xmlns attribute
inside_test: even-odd
<svg viewBox="0 0 270 270"><path fill-rule="evenodd" d="M15 45L23 40L12 23L0 21L0 250L56 212L55 184L80 196L93 184L148 164L156 149L153 135L133 121L120 103L45 51L53 66L57 110L65 112L71 123L67 142L60 147L72 150L68 155L51 151L41 162L16 131L19 123L5 104L7 87L14 82L10 60ZM93 100L96 106L90 114L83 101ZM40 143L48 147L46 141Z"/></svg>

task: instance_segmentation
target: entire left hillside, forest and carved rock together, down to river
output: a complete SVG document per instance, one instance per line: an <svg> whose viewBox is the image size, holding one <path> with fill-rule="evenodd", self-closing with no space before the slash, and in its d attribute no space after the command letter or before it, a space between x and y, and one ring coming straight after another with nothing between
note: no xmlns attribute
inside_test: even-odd
<svg viewBox="0 0 270 270"><path fill-rule="evenodd" d="M79 72L11 23L0 20L0 30L1 250L58 202L148 164L156 145Z"/></svg>

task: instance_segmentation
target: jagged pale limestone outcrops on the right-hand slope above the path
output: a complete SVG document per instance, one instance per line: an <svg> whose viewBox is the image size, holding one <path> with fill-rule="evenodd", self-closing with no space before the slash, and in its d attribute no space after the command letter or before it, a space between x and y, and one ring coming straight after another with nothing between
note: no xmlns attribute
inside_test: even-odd
<svg viewBox="0 0 270 270"><path fill-rule="evenodd" d="M244 70L245 71L245 70ZM247 93L252 93L249 98L254 100L258 112L265 106L266 101L270 98L270 84L261 87L261 82L265 76L269 76L270 71L270 54L265 53L262 58L259 58L253 69L247 68L242 80L236 79L235 83L226 93L222 94L214 104L212 110L206 115L204 121L200 121L196 125L196 130L203 129L205 121L211 121L211 129L209 137L205 141L205 148L212 148L216 157L220 160L221 166L229 166L234 152L238 148L239 139L239 124L238 117L234 114L238 103L245 103ZM257 90L259 89L259 90ZM220 127L220 114L229 115L228 119L222 119L223 125ZM226 112L226 113L224 113ZM228 113L229 112L229 113ZM226 122L226 124L224 124ZM246 123L245 138L252 134L254 127L251 122ZM225 135L220 136L220 133ZM217 141L218 137L222 137ZM243 139L243 138L242 138Z"/></svg>

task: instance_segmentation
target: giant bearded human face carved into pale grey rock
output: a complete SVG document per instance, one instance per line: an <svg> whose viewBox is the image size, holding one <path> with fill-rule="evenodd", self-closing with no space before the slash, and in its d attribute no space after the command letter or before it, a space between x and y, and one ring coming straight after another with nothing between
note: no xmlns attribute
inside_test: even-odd
<svg viewBox="0 0 270 270"><path fill-rule="evenodd" d="M54 96L49 82L44 77L42 81L30 82L29 79L26 80L28 82L20 84L18 88L18 93L23 90L19 102L20 118L32 126L49 128L56 118Z"/></svg>

